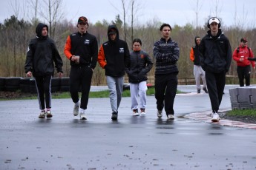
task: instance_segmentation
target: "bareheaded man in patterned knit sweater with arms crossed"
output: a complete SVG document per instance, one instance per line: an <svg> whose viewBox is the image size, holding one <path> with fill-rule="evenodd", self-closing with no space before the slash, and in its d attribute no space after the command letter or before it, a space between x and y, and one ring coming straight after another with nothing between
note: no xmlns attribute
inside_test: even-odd
<svg viewBox="0 0 256 170"><path fill-rule="evenodd" d="M171 39L171 26L162 24L162 38L154 43L153 54L156 59L155 68L155 98L157 99L157 117L162 118L163 109L168 120L174 120L174 98L177 92L179 73L177 61L180 58L180 48Z"/></svg>

